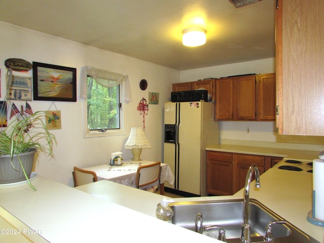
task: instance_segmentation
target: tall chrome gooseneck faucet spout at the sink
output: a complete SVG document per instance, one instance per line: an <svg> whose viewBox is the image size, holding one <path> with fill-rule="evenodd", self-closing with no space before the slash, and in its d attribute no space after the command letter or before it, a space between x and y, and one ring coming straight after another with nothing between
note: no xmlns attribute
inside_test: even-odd
<svg viewBox="0 0 324 243"><path fill-rule="evenodd" d="M244 190L244 223L242 225L242 234L241 234L241 243L250 243L250 224L249 224L249 216L250 216L250 184L251 178L255 172L255 187L259 188L260 186L260 173L259 169L256 165L252 165L249 168L246 180L245 180L245 190Z"/></svg>

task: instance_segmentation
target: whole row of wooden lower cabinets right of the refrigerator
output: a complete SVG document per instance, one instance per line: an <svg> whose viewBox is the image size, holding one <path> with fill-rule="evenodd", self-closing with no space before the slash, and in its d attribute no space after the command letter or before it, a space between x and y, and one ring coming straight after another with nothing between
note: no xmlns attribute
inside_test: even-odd
<svg viewBox="0 0 324 243"><path fill-rule="evenodd" d="M261 175L281 159L282 157L207 151L207 192L213 195L232 195L245 186L251 165L257 165ZM254 179L253 173L252 181Z"/></svg>

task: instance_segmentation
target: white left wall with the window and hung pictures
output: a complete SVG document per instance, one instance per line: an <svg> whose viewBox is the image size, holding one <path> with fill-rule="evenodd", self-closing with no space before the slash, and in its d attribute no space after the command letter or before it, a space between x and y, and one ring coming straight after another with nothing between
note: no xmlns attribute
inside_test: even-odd
<svg viewBox="0 0 324 243"><path fill-rule="evenodd" d="M57 109L61 110L62 129L52 130L58 142L54 147L55 158L40 156L35 169L38 174L72 186L73 166L84 168L108 163L110 153L116 151L122 151L124 159L132 158L131 150L124 149L124 144L131 127L143 126L143 117L137 111L137 106L142 97L148 101L148 92L159 93L159 104L149 105L148 115L145 116L145 133L152 148L143 149L141 158L161 160L164 102L170 100L171 84L180 82L179 71L4 22L0 22L0 31L1 100L5 97L4 63L8 58L77 69L77 102L55 102ZM133 101L123 104L125 136L84 138L85 105L84 101L79 99L79 78L80 70L85 65L129 75ZM15 74L32 76L32 70L25 74ZM146 91L139 88L139 82L143 78L148 82ZM23 104L18 101L14 103L17 106ZM52 104L51 101L29 103L33 111L48 110ZM51 110L53 109L54 106Z"/></svg>

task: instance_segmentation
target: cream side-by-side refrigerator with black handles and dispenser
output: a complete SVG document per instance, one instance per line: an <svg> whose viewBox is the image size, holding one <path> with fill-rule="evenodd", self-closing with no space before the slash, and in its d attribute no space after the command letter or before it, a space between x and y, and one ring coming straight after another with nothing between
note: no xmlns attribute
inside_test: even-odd
<svg viewBox="0 0 324 243"><path fill-rule="evenodd" d="M214 103L166 102L164 125L164 163L175 175L174 184L165 182L165 187L185 195L208 195L205 148L219 143Z"/></svg>

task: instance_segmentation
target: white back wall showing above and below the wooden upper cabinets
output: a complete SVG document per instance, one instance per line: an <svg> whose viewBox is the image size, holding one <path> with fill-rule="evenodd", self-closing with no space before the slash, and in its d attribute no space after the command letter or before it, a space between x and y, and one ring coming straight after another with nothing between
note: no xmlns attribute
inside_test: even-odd
<svg viewBox="0 0 324 243"><path fill-rule="evenodd" d="M272 72L275 72L275 58L181 71L180 82L191 82L208 77L219 78L231 75ZM278 134L274 121L220 121L219 126L221 143L227 143L228 140L245 140L324 145L324 137L281 136ZM250 129L249 133L247 133L247 128ZM279 144L278 146L282 145ZM304 149L311 149L311 146L306 146ZM319 149L323 149L323 147L321 146Z"/></svg>

